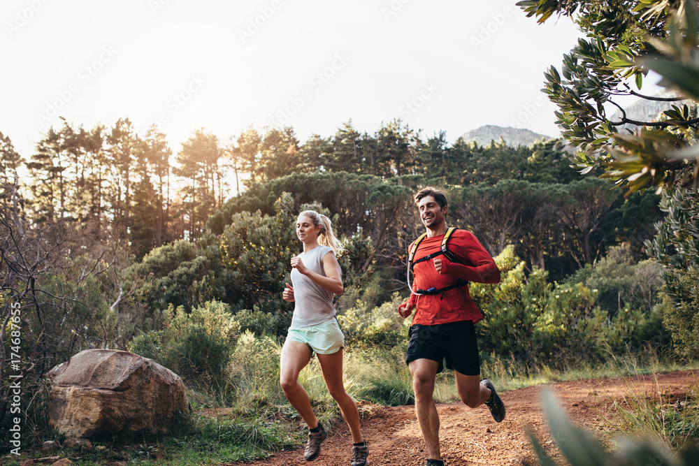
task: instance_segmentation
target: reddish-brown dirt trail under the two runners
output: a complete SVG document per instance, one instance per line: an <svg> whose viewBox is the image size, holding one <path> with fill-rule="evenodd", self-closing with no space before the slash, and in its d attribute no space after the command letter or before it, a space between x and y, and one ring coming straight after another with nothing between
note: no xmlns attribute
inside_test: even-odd
<svg viewBox="0 0 699 466"><path fill-rule="evenodd" d="M699 383L699 372L671 372L632 379L595 379L548 384L559 398L572 421L588 430L604 427L600 414L610 399L618 399L633 386L644 396L663 394L666 401L674 401L686 393L687 386ZM549 442L546 422L540 406L541 386L520 388L501 394L507 407L507 418L502 423L493 421L483 405L469 409L461 403L438 405L440 415L440 444L442 459L448 466L461 465L527 465L532 463L525 428L530 426L545 444ZM362 420L362 433L369 444L369 464L424 465L426 455L412 406L365 406L368 412ZM254 463L236 463L254 466L349 465L349 430L340 425L324 442L321 455L313 463L303 460L303 449L275 453L266 460Z"/></svg>

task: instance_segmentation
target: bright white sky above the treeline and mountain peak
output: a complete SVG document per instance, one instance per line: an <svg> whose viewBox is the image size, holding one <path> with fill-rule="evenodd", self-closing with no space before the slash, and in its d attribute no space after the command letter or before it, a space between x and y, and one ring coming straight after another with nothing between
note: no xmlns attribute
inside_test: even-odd
<svg viewBox="0 0 699 466"><path fill-rule="evenodd" d="M29 158L59 116L159 122L224 143L250 124L305 141L402 118L453 142L484 124L558 136L540 92L577 40L514 1L3 0L0 131Z"/></svg>

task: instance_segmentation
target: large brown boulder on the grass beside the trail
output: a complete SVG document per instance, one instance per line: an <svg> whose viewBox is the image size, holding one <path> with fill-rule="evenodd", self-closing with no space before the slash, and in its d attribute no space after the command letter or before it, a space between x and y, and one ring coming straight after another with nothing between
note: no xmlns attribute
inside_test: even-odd
<svg viewBox="0 0 699 466"><path fill-rule="evenodd" d="M188 411L182 379L128 351L87 349L49 375L49 425L66 437L164 433Z"/></svg>

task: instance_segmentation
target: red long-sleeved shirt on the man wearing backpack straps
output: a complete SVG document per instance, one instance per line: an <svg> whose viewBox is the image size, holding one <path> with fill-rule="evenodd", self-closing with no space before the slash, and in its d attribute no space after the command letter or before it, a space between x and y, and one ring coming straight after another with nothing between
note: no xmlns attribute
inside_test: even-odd
<svg viewBox="0 0 699 466"><path fill-rule="evenodd" d="M420 242L413 261L433 252L441 250L444 235L425 238ZM413 242L410 245L412 249ZM466 230L456 230L447 242L449 252L458 257L463 264L449 261L444 254L440 254L428 261L415 264L413 270L413 291L418 289L445 288L459 282L459 279L469 282L498 283L500 282L500 269L495 264L492 256L480 244L476 237ZM442 273L435 269L434 259L442 260ZM406 303L415 305L415 317L412 323L422 325L437 325L457 321L473 321L476 323L483 319L478 307L471 300L468 293L468 285L451 289L435 295L416 295L410 293Z"/></svg>

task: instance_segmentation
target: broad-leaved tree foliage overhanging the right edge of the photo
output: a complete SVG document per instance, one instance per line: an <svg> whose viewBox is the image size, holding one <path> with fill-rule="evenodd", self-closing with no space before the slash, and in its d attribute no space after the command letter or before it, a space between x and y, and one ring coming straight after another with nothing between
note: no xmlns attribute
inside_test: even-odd
<svg viewBox="0 0 699 466"><path fill-rule="evenodd" d="M699 182L699 6L696 1L552 1L517 3L538 22L552 15L573 17L586 38L563 57L559 72L546 74L544 92L559 106L563 138L578 147L573 161L582 173L603 170L603 177L628 193L655 188L668 215L657 234L645 240L651 258L663 265L665 322L680 351L696 354L696 235ZM677 96L640 93L649 71ZM633 90L635 87L637 90ZM667 105L651 121L636 121L617 103L631 95ZM689 103L677 103L689 99ZM677 103L677 105L675 105ZM616 108L621 117L607 115ZM624 124L635 130L619 131ZM628 194L627 194L628 195Z"/></svg>

